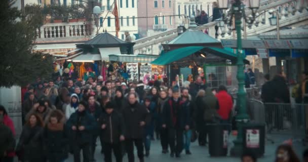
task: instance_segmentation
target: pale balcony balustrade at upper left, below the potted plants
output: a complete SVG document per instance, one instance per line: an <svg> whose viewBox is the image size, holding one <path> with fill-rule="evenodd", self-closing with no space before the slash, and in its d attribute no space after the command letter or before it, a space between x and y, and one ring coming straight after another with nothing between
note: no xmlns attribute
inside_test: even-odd
<svg viewBox="0 0 308 162"><path fill-rule="evenodd" d="M85 22L48 23L36 29L36 41L53 41L90 36Z"/></svg>

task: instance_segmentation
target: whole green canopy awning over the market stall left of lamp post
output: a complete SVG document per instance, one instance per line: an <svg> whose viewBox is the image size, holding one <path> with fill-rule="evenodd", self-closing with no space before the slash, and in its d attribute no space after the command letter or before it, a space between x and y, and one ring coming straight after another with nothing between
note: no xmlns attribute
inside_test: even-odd
<svg viewBox="0 0 308 162"><path fill-rule="evenodd" d="M197 55L193 55L193 54ZM206 58L201 57L200 54L206 54ZM198 55L199 54L199 55ZM203 64L206 62L221 63L225 60L231 60L233 64L236 63L237 56L230 48L215 48L215 47L202 47L190 46L175 49L161 54L159 58L152 61L151 64L155 65L168 65L176 62L179 66L185 66L191 63ZM244 63L249 64L249 61L244 60Z"/></svg>

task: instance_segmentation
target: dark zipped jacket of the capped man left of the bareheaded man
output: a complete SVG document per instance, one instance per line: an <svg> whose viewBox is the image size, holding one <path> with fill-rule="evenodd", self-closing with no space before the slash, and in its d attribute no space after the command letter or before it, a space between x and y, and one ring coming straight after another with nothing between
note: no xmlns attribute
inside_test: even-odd
<svg viewBox="0 0 308 162"><path fill-rule="evenodd" d="M98 124L100 129L102 125L106 125L106 128L100 131L103 142L119 143L120 136L125 134L124 120L118 111L113 111L111 114L102 114L99 117Z"/></svg>

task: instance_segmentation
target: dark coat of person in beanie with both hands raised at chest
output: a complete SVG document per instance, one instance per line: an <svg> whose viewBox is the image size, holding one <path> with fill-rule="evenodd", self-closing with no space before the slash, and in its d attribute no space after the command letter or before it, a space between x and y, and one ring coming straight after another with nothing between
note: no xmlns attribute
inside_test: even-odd
<svg viewBox="0 0 308 162"><path fill-rule="evenodd" d="M72 140L76 141L76 144L90 143L91 137L93 136L93 131L97 129L97 122L95 121L95 118L86 111L74 112L70 115L66 124L68 129L70 130L72 129L72 126L75 126L77 128L77 130L75 131L72 130L72 137L69 137L72 138ZM79 126L84 126L85 130L79 131Z"/></svg>

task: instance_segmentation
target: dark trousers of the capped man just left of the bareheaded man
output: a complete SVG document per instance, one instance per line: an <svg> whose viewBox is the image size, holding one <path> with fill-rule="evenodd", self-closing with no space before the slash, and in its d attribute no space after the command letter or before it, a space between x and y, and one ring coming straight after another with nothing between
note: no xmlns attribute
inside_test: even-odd
<svg viewBox="0 0 308 162"><path fill-rule="evenodd" d="M122 161L122 148L121 143L104 143L104 156L105 162L111 162L111 151L113 150L113 154L115 156L115 161Z"/></svg>

